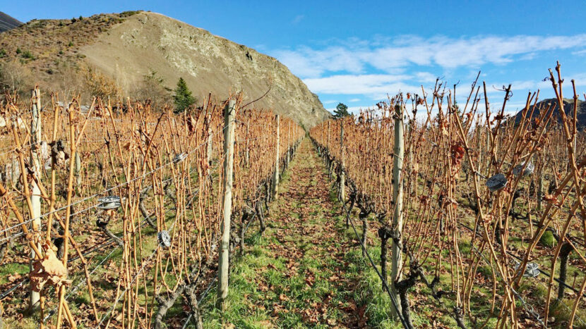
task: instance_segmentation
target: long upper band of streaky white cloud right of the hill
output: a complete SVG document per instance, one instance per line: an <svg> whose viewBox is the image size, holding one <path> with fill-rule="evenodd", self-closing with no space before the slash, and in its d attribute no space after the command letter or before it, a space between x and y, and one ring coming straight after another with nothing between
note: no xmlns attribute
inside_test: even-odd
<svg viewBox="0 0 586 329"><path fill-rule="evenodd" d="M573 49L586 44L586 34L573 36L512 37L377 37L373 41L334 40L333 46L312 49L299 46L273 54L301 77L320 77L323 73L364 73L376 68L397 73L412 65L440 66L444 70L459 67L478 68L486 63L504 65L515 60L530 60L539 51ZM581 51L580 51L580 54Z"/></svg>

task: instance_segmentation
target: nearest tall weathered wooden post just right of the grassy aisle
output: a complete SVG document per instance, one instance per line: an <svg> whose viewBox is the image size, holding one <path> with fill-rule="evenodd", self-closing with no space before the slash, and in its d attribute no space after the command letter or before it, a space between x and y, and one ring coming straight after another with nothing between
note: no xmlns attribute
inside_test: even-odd
<svg viewBox="0 0 586 329"><path fill-rule="evenodd" d="M393 200L395 200L395 212L393 213L393 247L391 248L391 283L395 300L400 300L395 283L401 280L400 267L402 264L402 226L403 226L403 185L401 173L403 169L403 156L405 144L403 138L403 106L395 106L395 149L393 156ZM401 312L393 309L393 318L398 318Z"/></svg>

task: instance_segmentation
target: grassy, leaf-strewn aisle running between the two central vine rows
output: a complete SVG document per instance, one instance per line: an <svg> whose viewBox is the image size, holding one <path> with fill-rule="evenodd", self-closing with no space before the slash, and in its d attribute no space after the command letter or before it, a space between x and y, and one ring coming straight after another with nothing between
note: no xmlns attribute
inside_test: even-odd
<svg viewBox="0 0 586 329"><path fill-rule="evenodd" d="M267 229L249 234L244 256L232 264L227 311L222 315L213 298L206 300L204 327L397 327L388 320L390 300L378 277L344 228L341 205L309 139L281 179Z"/></svg>

